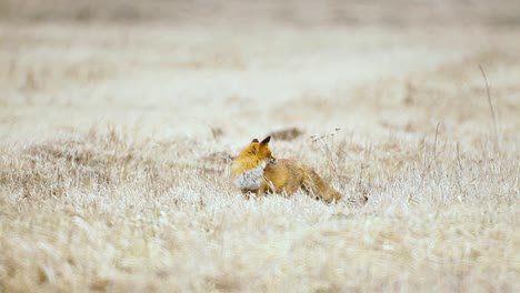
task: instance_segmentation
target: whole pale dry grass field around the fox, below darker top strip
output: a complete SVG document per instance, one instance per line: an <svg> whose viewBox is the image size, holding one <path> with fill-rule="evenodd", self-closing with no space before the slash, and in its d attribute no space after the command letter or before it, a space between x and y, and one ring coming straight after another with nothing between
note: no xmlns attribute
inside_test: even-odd
<svg viewBox="0 0 520 293"><path fill-rule="evenodd" d="M518 18L23 21L22 2L0 24L0 292L520 291ZM243 199L230 160L268 134L344 200Z"/></svg>

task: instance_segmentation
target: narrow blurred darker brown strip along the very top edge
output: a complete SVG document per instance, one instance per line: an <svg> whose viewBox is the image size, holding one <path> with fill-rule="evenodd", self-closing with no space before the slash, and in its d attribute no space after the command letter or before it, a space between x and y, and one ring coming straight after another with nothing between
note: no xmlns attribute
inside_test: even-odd
<svg viewBox="0 0 520 293"><path fill-rule="evenodd" d="M0 0L2 21L520 26L514 0Z"/></svg>

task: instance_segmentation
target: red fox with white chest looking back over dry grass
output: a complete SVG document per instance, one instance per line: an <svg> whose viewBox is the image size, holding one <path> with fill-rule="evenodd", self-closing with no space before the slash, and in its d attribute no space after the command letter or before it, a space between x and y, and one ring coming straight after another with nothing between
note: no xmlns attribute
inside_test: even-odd
<svg viewBox="0 0 520 293"><path fill-rule="evenodd" d="M243 194L266 192L291 195L300 188L327 203L342 195L330 188L310 166L291 159L274 159L269 149L271 137L254 139L231 164L233 183Z"/></svg>

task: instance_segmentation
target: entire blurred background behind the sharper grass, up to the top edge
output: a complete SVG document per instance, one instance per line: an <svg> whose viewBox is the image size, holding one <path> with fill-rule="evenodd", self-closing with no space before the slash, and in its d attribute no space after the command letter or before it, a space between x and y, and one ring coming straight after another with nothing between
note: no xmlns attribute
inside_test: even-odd
<svg viewBox="0 0 520 293"><path fill-rule="evenodd" d="M488 123L479 64L517 115L519 28L513 0L0 0L0 135L458 135Z"/></svg>

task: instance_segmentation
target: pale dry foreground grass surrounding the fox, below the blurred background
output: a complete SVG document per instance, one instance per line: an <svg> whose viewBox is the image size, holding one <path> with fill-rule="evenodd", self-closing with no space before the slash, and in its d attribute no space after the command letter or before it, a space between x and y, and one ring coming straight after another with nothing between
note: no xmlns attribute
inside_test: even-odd
<svg viewBox="0 0 520 293"><path fill-rule="evenodd" d="M302 193L244 200L228 183L226 151L190 154L208 153L200 141L111 130L4 145L2 287L282 291L273 280L306 276L291 287L514 291L516 149L336 140L323 142L331 153L302 158L348 194L336 205Z"/></svg>

